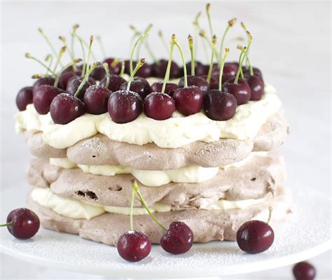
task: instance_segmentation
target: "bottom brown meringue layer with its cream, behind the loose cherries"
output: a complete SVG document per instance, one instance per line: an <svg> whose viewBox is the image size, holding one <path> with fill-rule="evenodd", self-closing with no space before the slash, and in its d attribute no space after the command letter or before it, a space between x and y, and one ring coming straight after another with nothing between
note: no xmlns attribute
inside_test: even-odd
<svg viewBox="0 0 332 280"><path fill-rule="evenodd" d="M246 209L183 210L155 213L155 216L166 228L173 221L183 221L193 230L195 242L235 240L237 229L242 223L254 219L267 221L270 207L273 209L273 226L282 223L291 213L290 204L291 200L285 189L278 188L274 198ZM127 215L106 213L90 220L67 218L42 207L30 196L27 206L38 214L45 228L69 232L104 244L116 245L120 235L129 230ZM158 244L160 237L165 233L148 215L135 216L134 229L145 232L154 244Z"/></svg>

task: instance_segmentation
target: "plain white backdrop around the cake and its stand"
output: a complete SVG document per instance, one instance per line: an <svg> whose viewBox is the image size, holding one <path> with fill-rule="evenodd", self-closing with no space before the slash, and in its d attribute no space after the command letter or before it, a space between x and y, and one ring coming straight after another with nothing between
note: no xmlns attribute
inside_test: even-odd
<svg viewBox="0 0 332 280"><path fill-rule="evenodd" d="M25 59L29 51L38 57L48 53L46 43L36 29L46 34L60 48L57 36L69 37L69 29L79 23L79 32L88 41L90 34L102 35L108 55L127 57L131 32L130 23L144 29L149 22L151 46L155 55L166 57L158 41L157 30L168 38L172 33L186 48L186 36L194 34L191 22L204 2L14 2L1 4L1 188L22 184L25 195L24 169L30 155L23 137L15 135L13 115L15 94L31 85L29 78L41 68ZM212 2L214 31L219 38L226 21L236 17L247 23L254 36L251 61L262 69L265 80L277 87L291 134L282 151L289 179L287 187L293 195L301 186L310 186L331 195L331 3L313 2ZM205 16L201 20L207 29ZM228 38L243 36L240 26L231 29ZM227 41L227 40L226 40ZM236 44L236 43L235 43ZM231 56L237 56L234 43L229 43ZM100 55L95 45L95 52ZM204 60L202 49L198 51ZM144 50L142 56L148 55ZM175 57L179 61L179 56ZM102 57L100 57L102 59ZM1 197L15 200L15 197ZM310 200L310 197L307 198ZM317 205L319 207L319 205ZM314 209L312 209L314 211ZM330 217L326 217L326 223ZM310 225L307 225L310 230ZM296 235L296 232L294 232ZM331 253L312 260L318 270L317 279L331 279ZM29 265L1 255L1 276L4 279L99 279L37 265ZM291 267L268 272L233 276L224 279L291 279Z"/></svg>

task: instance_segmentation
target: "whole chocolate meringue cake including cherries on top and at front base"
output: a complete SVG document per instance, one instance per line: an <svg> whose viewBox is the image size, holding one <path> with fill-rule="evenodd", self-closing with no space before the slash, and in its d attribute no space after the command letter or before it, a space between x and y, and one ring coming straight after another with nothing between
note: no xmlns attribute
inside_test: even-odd
<svg viewBox="0 0 332 280"><path fill-rule="evenodd" d="M168 59L155 59L152 25L132 27L128 59L92 61L94 38L85 43L78 25L71 39L83 59L64 37L53 64L26 55L44 73L18 92L15 121L35 157L28 208L44 228L118 246L130 261L151 244L174 254L212 240L237 240L248 253L272 245L272 227L290 207L278 152L289 125L275 88L251 64L247 27L247 44L233 50L225 38L236 20L219 40L209 6L207 15L211 39L201 29L188 36L189 62L175 34ZM195 40L210 47L209 62L195 57ZM144 49L153 62L134 60Z"/></svg>

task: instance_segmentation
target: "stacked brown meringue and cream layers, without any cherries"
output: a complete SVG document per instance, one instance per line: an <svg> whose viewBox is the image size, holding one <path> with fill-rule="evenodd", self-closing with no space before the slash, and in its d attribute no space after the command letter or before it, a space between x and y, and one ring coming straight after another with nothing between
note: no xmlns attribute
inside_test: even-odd
<svg viewBox="0 0 332 280"><path fill-rule="evenodd" d="M290 211L278 153L289 125L270 85L260 101L221 122L175 112L116 124L105 113L55 125L33 104L15 119L36 157L27 171L28 207L45 228L116 244L129 229L133 178L158 220L166 228L184 221L195 242L234 240L242 223L267 221L270 207L272 223ZM134 229L153 243L163 234L138 199Z"/></svg>

